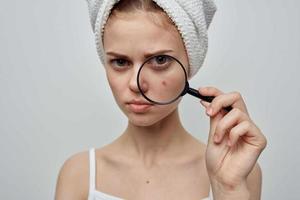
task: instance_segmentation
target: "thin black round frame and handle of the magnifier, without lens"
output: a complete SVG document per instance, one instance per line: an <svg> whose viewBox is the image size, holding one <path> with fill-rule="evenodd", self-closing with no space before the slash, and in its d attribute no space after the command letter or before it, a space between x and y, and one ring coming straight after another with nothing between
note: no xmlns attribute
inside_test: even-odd
<svg viewBox="0 0 300 200"><path fill-rule="evenodd" d="M184 86L182 92L181 92L176 98L172 99L171 101L167 101L167 102L157 102L157 101L153 101L152 99L148 98L148 97L144 94L144 92L143 92L143 90L142 90L142 88L141 88L141 85L140 85L140 81L139 81L140 74L141 74L141 70L143 69L143 66L144 66L147 62L149 62L151 59L156 58L156 57L158 57L158 56L164 56L164 57L169 57L169 58L171 58L171 59L174 59L174 60L180 65L180 67L182 68L182 70L183 70L183 72L184 72L185 86ZM151 103L153 103L153 104L158 104L158 105L167 105L167 104L171 104L171 103L175 102L177 99L179 99L180 97L184 96L184 95L187 94L187 93L190 94L190 95L192 95L192 96L194 96L194 97L197 97L197 98L199 98L199 99L202 99L203 101L207 101L207 102L212 102L212 100L215 98L215 96L203 96L203 95L201 95L201 94L199 93L198 90L196 90L196 89L194 89L194 88L191 88L191 87L189 86L189 82L188 82L188 80L187 80L187 73L186 73L186 70L185 70L183 64L182 64L177 58L175 58L175 57L173 57L173 56L170 56L170 55L166 55L166 54L154 55L154 56L151 56L151 57L147 58L147 60L146 60L146 61L141 65L141 67L139 68L139 71L138 71L138 74L137 74L137 86L138 86L138 88L139 88L139 90L140 90L140 93L143 95L143 97L144 97L145 99L147 99L149 102L151 102ZM232 107L231 107L231 106L228 106L228 107L225 107L224 109L225 109L226 111L229 112L229 111L232 109Z"/></svg>

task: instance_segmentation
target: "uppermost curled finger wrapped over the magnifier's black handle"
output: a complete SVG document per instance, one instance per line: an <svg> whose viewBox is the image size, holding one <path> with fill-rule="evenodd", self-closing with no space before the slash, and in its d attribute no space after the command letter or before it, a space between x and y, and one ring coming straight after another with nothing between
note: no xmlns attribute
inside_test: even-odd
<svg viewBox="0 0 300 200"><path fill-rule="evenodd" d="M213 99L210 105L210 116L214 116L221 109L232 106L232 108L238 108L248 114L246 105L243 98L238 92L230 92L228 94L221 94ZM209 109L209 108L208 108Z"/></svg>

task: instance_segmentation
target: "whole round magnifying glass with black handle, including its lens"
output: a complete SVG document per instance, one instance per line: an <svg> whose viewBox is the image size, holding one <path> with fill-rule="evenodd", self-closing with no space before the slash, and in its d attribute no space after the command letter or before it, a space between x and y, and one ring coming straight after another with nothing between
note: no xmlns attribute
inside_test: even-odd
<svg viewBox="0 0 300 200"><path fill-rule="evenodd" d="M203 96L198 90L190 88L183 64L170 55L156 55L148 58L139 68L138 88L145 99L158 105L175 102L185 94L211 102L214 96ZM231 106L224 108L226 111Z"/></svg>

